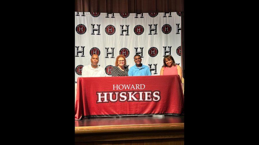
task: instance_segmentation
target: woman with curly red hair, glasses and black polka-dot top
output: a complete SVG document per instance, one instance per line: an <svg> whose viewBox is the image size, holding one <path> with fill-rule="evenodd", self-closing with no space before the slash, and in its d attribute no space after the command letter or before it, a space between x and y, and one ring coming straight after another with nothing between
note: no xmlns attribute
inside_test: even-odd
<svg viewBox="0 0 259 145"><path fill-rule="evenodd" d="M124 55L119 55L116 58L115 66L113 66L112 77L128 76L129 68L126 66L126 58Z"/></svg>

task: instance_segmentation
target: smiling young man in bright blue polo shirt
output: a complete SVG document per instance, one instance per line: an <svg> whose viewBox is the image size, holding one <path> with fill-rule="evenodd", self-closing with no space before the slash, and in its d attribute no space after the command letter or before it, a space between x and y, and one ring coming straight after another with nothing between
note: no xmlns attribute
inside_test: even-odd
<svg viewBox="0 0 259 145"><path fill-rule="evenodd" d="M134 56L134 62L136 63L134 66L129 68L128 75L129 76L151 76L151 72L148 66L143 65L141 63L142 59L139 54Z"/></svg>

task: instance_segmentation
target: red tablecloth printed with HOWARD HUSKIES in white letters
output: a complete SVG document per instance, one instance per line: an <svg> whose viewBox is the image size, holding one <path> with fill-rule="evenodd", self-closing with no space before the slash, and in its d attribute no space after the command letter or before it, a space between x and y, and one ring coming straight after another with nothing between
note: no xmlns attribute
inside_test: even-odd
<svg viewBox="0 0 259 145"><path fill-rule="evenodd" d="M180 115L183 109L179 75L77 79L76 120L99 116Z"/></svg>

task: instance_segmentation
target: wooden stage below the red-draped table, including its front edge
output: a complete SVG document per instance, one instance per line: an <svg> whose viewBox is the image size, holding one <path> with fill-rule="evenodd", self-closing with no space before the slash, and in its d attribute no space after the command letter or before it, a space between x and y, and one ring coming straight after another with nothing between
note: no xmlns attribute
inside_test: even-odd
<svg viewBox="0 0 259 145"><path fill-rule="evenodd" d="M75 144L184 144L184 116L148 115L75 120Z"/></svg>

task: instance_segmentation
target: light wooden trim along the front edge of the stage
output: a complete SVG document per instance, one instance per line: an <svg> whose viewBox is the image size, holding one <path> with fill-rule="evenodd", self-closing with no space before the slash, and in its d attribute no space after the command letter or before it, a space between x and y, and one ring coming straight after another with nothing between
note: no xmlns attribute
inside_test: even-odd
<svg viewBox="0 0 259 145"><path fill-rule="evenodd" d="M96 133L116 133L116 132L177 131L177 130L184 130L184 123L83 126L83 127L75 127L75 135L96 134Z"/></svg>

